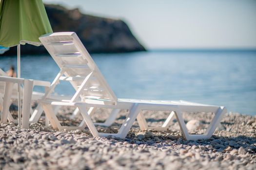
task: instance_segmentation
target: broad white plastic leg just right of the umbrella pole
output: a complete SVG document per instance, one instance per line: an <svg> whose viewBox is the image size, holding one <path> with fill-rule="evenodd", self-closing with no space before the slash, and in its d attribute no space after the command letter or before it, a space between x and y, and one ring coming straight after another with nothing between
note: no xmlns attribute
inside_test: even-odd
<svg viewBox="0 0 256 170"><path fill-rule="evenodd" d="M33 90L33 81L24 80L24 92L23 92L23 107L22 107L22 125L24 129L28 129L29 126L29 116L31 108L31 97Z"/></svg>

